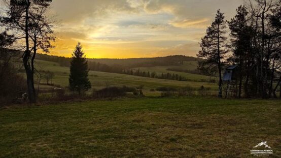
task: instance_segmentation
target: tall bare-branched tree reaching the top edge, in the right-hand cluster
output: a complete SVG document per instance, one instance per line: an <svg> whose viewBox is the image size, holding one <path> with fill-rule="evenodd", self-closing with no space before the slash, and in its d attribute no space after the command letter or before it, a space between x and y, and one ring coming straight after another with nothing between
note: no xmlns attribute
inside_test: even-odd
<svg viewBox="0 0 281 158"><path fill-rule="evenodd" d="M256 55L256 89L257 96L268 98L268 70L275 64L272 58L276 52L276 31L270 24L272 9L276 8L276 0L248 0L250 19L255 30L253 47ZM274 66L273 66L274 67Z"/></svg>

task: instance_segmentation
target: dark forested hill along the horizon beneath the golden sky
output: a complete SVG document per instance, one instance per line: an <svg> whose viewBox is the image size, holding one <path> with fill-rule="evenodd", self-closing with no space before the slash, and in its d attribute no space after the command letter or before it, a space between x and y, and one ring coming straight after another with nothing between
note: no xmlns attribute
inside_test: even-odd
<svg viewBox="0 0 281 158"><path fill-rule="evenodd" d="M60 66L69 67L71 58L60 57L55 55L38 54L37 59L58 62ZM154 66L175 66L181 65L184 61L197 61L198 58L184 55L173 55L165 57L152 57L152 58L128 58L128 59L90 59L88 58L89 66L106 65L108 67L118 66L122 69L131 69L137 67L154 67Z"/></svg>

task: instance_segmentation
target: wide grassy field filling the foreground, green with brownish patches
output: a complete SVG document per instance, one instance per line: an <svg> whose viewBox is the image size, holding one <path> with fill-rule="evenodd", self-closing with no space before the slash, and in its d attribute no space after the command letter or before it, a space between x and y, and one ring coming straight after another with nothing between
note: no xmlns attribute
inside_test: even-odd
<svg viewBox="0 0 281 158"><path fill-rule="evenodd" d="M281 156L279 100L118 99L0 109L0 157ZM253 156L254 157L254 156Z"/></svg>

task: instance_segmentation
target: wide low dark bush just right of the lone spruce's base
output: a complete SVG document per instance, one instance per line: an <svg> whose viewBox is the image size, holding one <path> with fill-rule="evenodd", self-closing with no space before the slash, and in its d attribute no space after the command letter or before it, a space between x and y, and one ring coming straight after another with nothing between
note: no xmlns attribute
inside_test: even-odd
<svg viewBox="0 0 281 158"><path fill-rule="evenodd" d="M126 95L126 90L120 87L107 87L100 90L95 91L93 96L95 98L115 98L115 97L123 97Z"/></svg>

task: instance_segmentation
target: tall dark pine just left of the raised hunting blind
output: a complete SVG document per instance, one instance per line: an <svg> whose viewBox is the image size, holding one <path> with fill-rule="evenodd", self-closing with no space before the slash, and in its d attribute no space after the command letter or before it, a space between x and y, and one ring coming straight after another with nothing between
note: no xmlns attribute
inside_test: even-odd
<svg viewBox="0 0 281 158"><path fill-rule="evenodd" d="M206 35L201 39L201 50L197 54L203 58L198 62L198 69L201 71L215 70L219 72L219 95L222 97L222 67L224 57L227 53L226 21L224 13L218 10L215 21L207 28Z"/></svg>

